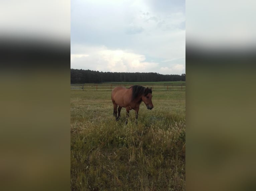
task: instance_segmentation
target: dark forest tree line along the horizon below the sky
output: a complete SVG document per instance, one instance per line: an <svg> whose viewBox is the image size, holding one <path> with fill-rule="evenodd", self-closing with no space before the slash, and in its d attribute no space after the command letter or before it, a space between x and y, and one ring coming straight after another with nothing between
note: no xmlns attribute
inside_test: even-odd
<svg viewBox="0 0 256 191"><path fill-rule="evenodd" d="M99 72L83 69L71 69L71 84L103 83L103 82L165 82L185 81L186 75L158 73Z"/></svg>

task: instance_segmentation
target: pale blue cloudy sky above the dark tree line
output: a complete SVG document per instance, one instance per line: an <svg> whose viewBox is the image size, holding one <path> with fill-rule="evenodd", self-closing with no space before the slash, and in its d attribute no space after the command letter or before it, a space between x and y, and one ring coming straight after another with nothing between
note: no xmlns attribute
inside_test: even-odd
<svg viewBox="0 0 256 191"><path fill-rule="evenodd" d="M72 0L71 68L185 73L185 0Z"/></svg>

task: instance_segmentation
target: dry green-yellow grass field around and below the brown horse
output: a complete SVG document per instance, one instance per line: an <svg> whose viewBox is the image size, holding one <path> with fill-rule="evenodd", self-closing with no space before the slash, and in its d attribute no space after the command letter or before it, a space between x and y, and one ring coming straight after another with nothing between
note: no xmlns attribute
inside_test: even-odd
<svg viewBox="0 0 256 191"><path fill-rule="evenodd" d="M111 91L71 90L72 190L185 190L185 91L153 92L125 125Z"/></svg>

